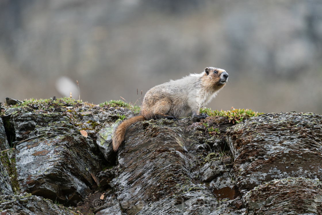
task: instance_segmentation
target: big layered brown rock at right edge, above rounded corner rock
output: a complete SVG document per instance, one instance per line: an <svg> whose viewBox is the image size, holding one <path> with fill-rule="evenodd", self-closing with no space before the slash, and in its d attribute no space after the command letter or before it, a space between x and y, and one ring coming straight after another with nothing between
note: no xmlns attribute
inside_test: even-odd
<svg viewBox="0 0 322 215"><path fill-rule="evenodd" d="M321 115L291 112L252 117L233 126L227 141L242 195L274 179L322 178Z"/></svg>

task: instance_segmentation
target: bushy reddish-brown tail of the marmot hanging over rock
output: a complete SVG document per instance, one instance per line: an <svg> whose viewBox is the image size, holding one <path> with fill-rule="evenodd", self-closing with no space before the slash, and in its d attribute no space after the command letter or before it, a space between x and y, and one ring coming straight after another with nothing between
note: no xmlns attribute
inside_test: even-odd
<svg viewBox="0 0 322 215"><path fill-rule="evenodd" d="M112 137L113 142L113 150L117 151L118 147L120 147L121 143L124 141L125 132L130 125L132 125L134 122L139 122L146 120L144 116L135 116L128 120L124 120L121 122L118 127L115 129Z"/></svg>

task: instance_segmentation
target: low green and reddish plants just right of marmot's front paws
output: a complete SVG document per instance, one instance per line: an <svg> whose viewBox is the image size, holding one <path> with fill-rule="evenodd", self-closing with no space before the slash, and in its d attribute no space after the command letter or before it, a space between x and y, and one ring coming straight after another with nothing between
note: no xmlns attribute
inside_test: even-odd
<svg viewBox="0 0 322 215"><path fill-rule="evenodd" d="M236 123L240 123L242 122L244 119L247 119L249 117L252 116L259 116L261 114L264 113L259 113L259 112L255 112L251 109L235 109L235 108L231 108L230 111L218 111L218 110L211 110L211 108L201 108L200 109L200 113L205 113L209 116L223 116L226 117L229 122L232 122L233 124Z"/></svg>

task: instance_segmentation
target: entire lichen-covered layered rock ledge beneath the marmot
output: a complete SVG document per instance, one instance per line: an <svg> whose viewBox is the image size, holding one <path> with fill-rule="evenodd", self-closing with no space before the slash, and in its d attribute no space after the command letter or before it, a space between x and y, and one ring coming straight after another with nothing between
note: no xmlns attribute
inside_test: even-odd
<svg viewBox="0 0 322 215"><path fill-rule="evenodd" d="M15 135L15 149L1 152L5 212L322 213L318 114L269 113L237 125L222 116L137 122L116 153L112 131L134 115L126 108L5 108Z"/></svg>

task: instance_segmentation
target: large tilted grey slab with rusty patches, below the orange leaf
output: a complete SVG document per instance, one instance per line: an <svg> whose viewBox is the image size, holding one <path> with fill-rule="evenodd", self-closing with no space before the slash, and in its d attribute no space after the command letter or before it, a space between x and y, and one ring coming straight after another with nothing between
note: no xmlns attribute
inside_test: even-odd
<svg viewBox="0 0 322 215"><path fill-rule="evenodd" d="M96 184L91 173L101 163L84 137L64 128L45 128L17 145L21 190L63 203L76 204L89 194Z"/></svg>

